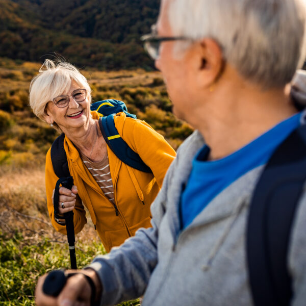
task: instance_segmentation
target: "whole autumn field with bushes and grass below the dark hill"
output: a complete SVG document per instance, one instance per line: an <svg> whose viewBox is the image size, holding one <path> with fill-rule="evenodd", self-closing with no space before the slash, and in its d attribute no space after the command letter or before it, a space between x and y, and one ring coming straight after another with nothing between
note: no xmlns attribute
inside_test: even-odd
<svg viewBox="0 0 306 306"><path fill-rule="evenodd" d="M29 85L39 67L0 58L0 305L34 305L38 276L70 265L66 237L54 230L46 211L44 158L58 135L28 106ZM172 115L159 72L82 72L93 101L123 100L175 149L192 132ZM80 268L105 252L90 217L76 246Z"/></svg>

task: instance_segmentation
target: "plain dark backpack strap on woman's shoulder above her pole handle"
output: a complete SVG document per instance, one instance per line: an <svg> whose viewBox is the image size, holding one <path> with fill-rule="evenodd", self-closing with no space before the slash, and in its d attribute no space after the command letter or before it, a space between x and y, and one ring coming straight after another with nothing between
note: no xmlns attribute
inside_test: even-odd
<svg viewBox="0 0 306 306"><path fill-rule="evenodd" d="M67 155L64 149L65 134L61 134L51 146L51 161L55 174L58 177L70 176Z"/></svg>

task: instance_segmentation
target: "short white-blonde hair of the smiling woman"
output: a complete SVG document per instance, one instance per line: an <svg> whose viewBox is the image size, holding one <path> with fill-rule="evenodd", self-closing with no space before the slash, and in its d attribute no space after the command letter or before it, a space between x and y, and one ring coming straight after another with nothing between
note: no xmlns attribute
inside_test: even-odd
<svg viewBox="0 0 306 306"><path fill-rule="evenodd" d="M34 114L45 121L43 115L46 104L56 96L67 93L71 82L85 88L91 99L90 86L77 68L61 60L45 60L30 84L29 99Z"/></svg>

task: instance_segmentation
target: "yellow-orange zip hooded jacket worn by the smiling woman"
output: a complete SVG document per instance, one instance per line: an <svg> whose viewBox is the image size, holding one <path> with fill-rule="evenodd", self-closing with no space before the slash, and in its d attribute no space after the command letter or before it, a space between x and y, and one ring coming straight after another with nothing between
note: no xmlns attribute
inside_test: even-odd
<svg viewBox="0 0 306 306"><path fill-rule="evenodd" d="M95 111L91 114L94 119L99 118ZM139 227L151 226L150 204L159 192L166 171L175 158L173 148L146 122L126 117L124 113L118 113L114 122L119 135L153 172L145 173L127 166L107 147L118 216L113 204L84 165L78 150L66 136L64 140L69 171L79 192L73 210L75 234L87 222L83 202L107 251L133 236ZM49 216L56 230L66 234L66 226L60 225L54 218L52 193L59 178L53 170L50 149L46 155L45 172Z"/></svg>

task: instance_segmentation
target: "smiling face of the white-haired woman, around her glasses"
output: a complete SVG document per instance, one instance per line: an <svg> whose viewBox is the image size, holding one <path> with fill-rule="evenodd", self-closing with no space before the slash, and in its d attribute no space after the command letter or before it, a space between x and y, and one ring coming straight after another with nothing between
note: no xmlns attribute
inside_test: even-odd
<svg viewBox="0 0 306 306"><path fill-rule="evenodd" d="M70 88L67 92L61 95L69 95L69 104L66 107L59 108L53 101L49 101L45 109L45 120L47 123L57 123L60 129L69 134L69 131L86 127L90 119L90 93L87 91L86 99L80 103L75 101L71 96L74 90L80 89L80 86L71 82ZM55 97L54 97L55 98Z"/></svg>

